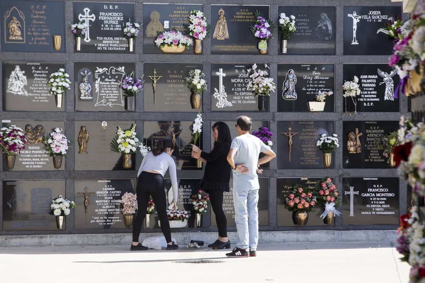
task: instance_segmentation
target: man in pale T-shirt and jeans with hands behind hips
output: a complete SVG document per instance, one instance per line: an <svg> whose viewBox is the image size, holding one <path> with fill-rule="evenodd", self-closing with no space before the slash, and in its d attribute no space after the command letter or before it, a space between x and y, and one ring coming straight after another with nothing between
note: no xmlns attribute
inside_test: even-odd
<svg viewBox="0 0 425 283"><path fill-rule="evenodd" d="M233 204L236 213L236 247L226 256L230 258L257 255L258 244L258 166L276 157L276 154L258 137L249 134L251 118L240 116L236 121L238 137L230 146L227 161L233 171ZM260 152L265 154L258 159Z"/></svg>

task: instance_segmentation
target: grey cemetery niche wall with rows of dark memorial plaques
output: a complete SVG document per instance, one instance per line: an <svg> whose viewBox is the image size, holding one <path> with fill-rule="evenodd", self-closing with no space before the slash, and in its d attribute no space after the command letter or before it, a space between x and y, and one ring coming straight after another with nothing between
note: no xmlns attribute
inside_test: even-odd
<svg viewBox="0 0 425 283"><path fill-rule="evenodd" d="M392 42L376 32L389 17L401 14L401 4L388 0L377 0L374 6L343 6L338 0L315 6L307 0L296 5L277 0L259 4L2 0L1 127L20 127L28 143L11 169L2 154L0 235L128 233L132 226L124 224L117 201L125 192L135 193L143 157L140 151L132 154L132 165L126 169L122 154L111 151L110 142L117 126L127 129L131 124L136 124L137 136L151 149L160 139L175 145L178 207L190 216L187 226L175 231L216 232L211 208L202 216L201 227L191 210L191 195L204 175L204 166L191 157L198 112L203 127L196 145L207 152L214 146L211 126L217 121L229 126L232 138L237 136L240 115L252 118L250 134L262 127L273 133L277 157L261 165L263 174L258 175L261 231L396 229L397 216L408 206L406 183L397 178L397 170L374 141L399 128L399 117L409 116L408 103L401 93L394 95L399 78L388 67ZM184 32L193 10L202 11L210 25L201 55L194 53L193 45L181 54L163 53L154 42L156 36ZM266 42L264 55L248 26L256 10L275 25L274 39ZM296 31L287 41L286 53L278 33L281 13L295 17ZM140 24L133 51L122 31L128 21ZM81 37L80 50L69 26L78 22L90 25ZM247 70L254 64L276 84L264 111L258 110L258 98L246 87ZM72 82L61 107L46 86L49 75L59 68ZM198 108L184 82L193 69L202 70L207 81ZM121 81L133 71L136 77L143 76L144 83L134 96L134 111L128 111ZM354 105L342 97L344 81L354 76L362 89L357 119L347 115ZM326 98L323 111L312 112L309 102L315 101L318 91L333 94ZM59 169L43 149L47 134L56 127L71 140ZM329 168L316 145L321 134L337 134L339 139ZM337 209L343 215L326 225L316 207L306 226L295 225L284 209L287 191L295 183L311 188L323 177L332 178L341 192L342 205ZM169 174L164 178L168 194ZM62 230L46 207L59 194L77 205ZM225 193L223 207L228 231L235 231L231 192ZM160 232L154 216L144 226L142 233Z"/></svg>

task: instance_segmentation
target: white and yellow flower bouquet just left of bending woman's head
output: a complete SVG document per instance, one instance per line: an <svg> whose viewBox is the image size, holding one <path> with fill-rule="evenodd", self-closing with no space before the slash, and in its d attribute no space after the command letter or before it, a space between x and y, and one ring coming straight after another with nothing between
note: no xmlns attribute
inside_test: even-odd
<svg viewBox="0 0 425 283"><path fill-rule="evenodd" d="M116 135L111 141L111 151L122 154L134 154L137 148L142 146L136 133L136 124L132 125L130 129L122 130L117 127Z"/></svg>

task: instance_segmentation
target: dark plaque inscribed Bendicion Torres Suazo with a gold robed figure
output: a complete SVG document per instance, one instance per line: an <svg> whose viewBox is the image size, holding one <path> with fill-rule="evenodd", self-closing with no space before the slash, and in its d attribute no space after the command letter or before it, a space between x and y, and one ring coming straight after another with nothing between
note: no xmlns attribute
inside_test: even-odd
<svg viewBox="0 0 425 283"><path fill-rule="evenodd" d="M218 23L219 9L224 10L226 25ZM265 18L269 17L268 5L211 5L211 54L258 55L258 38L248 28L255 21L255 10L263 13ZM215 31L229 36L217 39Z"/></svg>

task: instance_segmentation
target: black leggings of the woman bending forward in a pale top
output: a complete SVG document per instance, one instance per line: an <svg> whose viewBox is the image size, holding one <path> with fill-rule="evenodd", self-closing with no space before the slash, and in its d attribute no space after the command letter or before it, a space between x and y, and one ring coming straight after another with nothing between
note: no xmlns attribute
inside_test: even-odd
<svg viewBox="0 0 425 283"><path fill-rule="evenodd" d="M156 211L161 221L161 230L167 243L171 242L170 223L167 217L167 199L165 198L164 178L161 174L142 171L137 179L137 216L133 224L133 242L139 241L144 216L146 215L149 195L155 202Z"/></svg>

